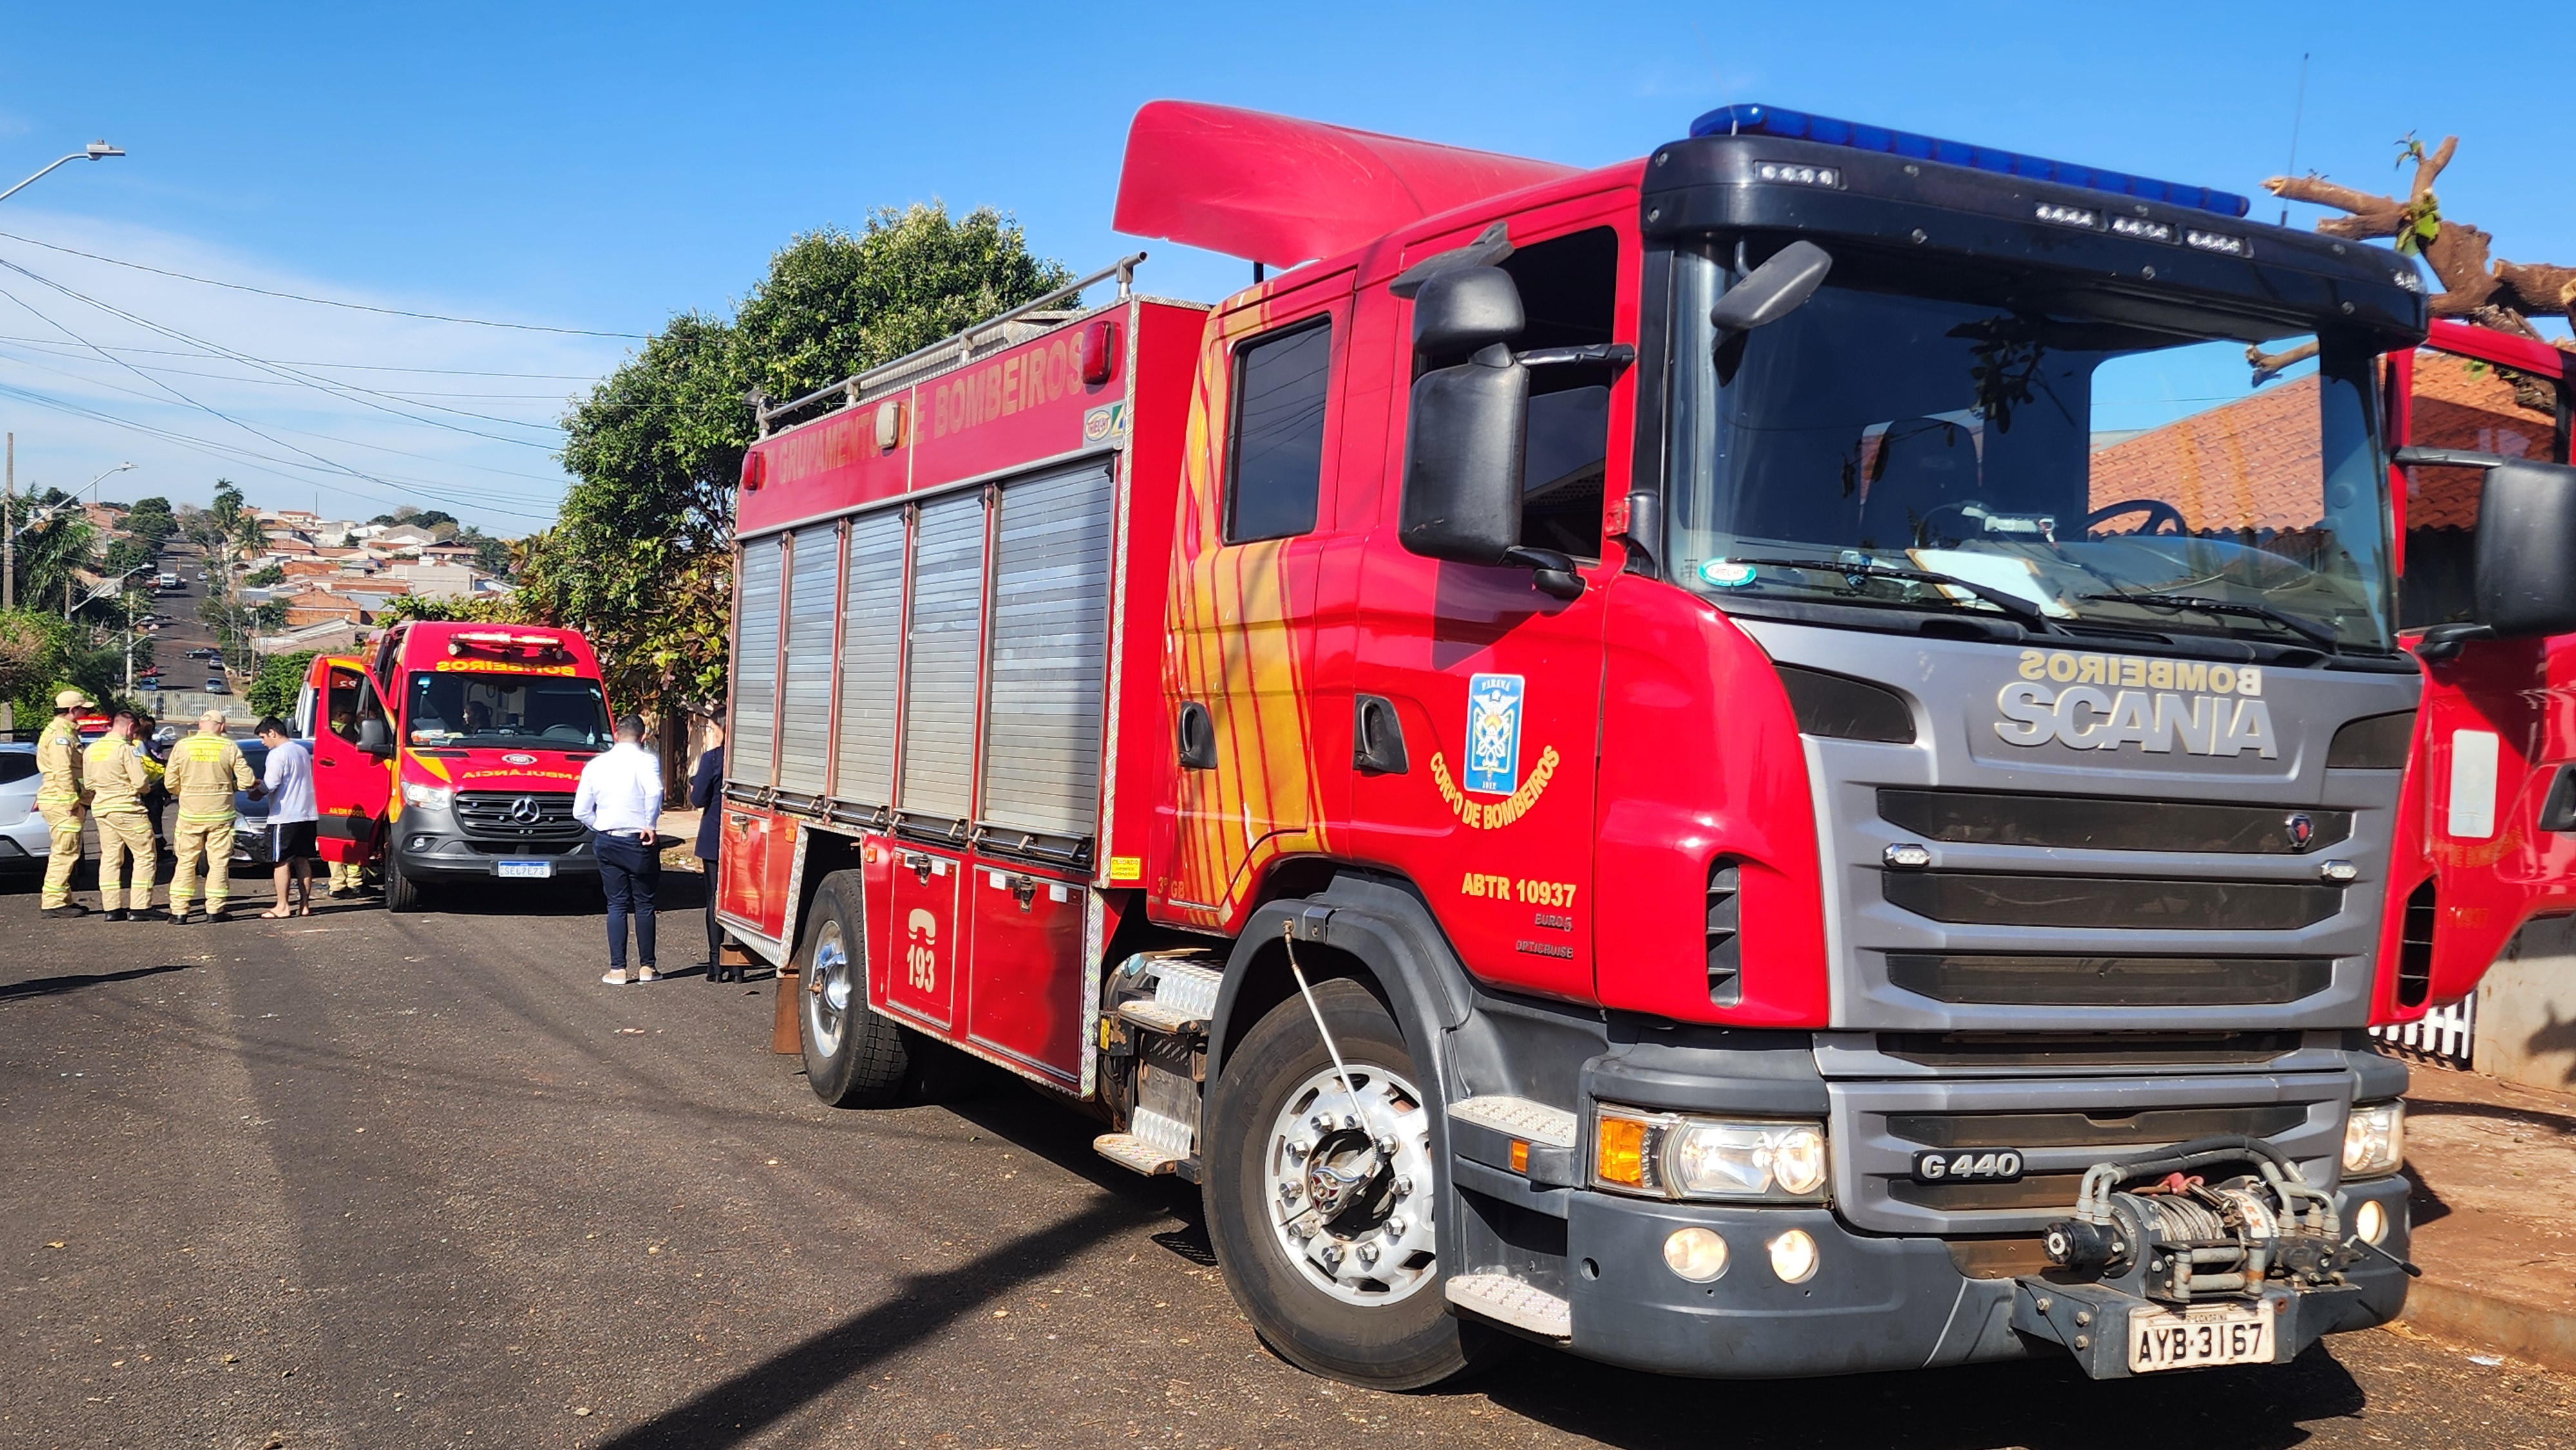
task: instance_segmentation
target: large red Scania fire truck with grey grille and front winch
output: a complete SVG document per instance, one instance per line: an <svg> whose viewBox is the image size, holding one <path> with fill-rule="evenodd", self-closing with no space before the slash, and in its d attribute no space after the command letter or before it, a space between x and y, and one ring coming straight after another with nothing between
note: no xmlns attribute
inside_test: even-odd
<svg viewBox="0 0 2576 1450"><path fill-rule="evenodd" d="M1767 106L1579 173L1154 103L1118 227L1257 281L760 407L719 904L827 1102L1090 1105L1373 1386L2398 1311L2411 260ZM2478 628L2576 626L2571 500L2488 474Z"/></svg>

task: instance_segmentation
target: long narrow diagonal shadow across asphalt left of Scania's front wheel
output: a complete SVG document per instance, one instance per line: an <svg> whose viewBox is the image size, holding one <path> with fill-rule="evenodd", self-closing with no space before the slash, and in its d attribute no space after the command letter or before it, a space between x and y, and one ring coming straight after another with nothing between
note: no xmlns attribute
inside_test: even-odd
<svg viewBox="0 0 2576 1450"><path fill-rule="evenodd" d="M1012 1288L1041 1280L1074 1254L1136 1229L1151 1208L1108 1200L1048 1229L1023 1234L969 1265L907 1275L876 1308L788 1344L714 1388L603 1442L600 1450L721 1450L760 1440L781 1419L902 1355Z"/></svg>

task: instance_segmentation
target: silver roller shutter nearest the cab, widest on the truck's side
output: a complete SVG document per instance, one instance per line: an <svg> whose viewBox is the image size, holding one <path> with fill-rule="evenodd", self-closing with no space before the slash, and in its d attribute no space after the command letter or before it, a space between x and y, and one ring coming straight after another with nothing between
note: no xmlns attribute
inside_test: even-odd
<svg viewBox="0 0 2576 1450"><path fill-rule="evenodd" d="M992 561L984 822L1092 834L1108 592L1108 464L1005 484Z"/></svg>

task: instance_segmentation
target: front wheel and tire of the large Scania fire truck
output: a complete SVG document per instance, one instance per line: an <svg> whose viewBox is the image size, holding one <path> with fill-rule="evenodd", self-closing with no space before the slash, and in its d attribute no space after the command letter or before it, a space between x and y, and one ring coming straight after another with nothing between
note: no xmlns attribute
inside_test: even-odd
<svg viewBox="0 0 2576 1450"><path fill-rule="evenodd" d="M1455 1319L1440 1293L1440 1105L1417 1087L1427 1074L1365 986L1321 981L1314 999L1358 1079L1368 1125L1394 1138L1394 1159L1347 1125L1360 1115L1306 999L1291 997L1226 1056L1216 1084L1208 1239L1234 1303L1288 1362L1381 1391L1435 1386L1502 1350L1489 1329ZM1306 1208L1288 1223L1273 1213L1288 1200L1283 1187Z"/></svg>

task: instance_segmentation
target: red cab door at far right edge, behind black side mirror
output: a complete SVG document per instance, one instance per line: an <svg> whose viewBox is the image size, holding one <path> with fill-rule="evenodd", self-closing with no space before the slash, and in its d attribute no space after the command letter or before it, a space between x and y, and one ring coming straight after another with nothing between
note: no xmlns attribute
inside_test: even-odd
<svg viewBox="0 0 2576 1450"><path fill-rule="evenodd" d="M2424 631L2424 881L2403 896L2398 999L2455 1002L2532 917L2576 909L2576 636L2483 639L2486 469L2568 461L2566 353L2463 322L2391 355L2403 613ZM2429 641L2429 646L2427 646Z"/></svg>

